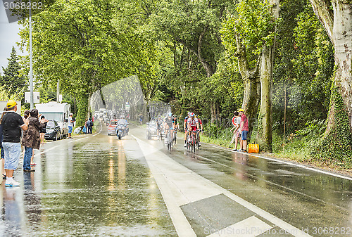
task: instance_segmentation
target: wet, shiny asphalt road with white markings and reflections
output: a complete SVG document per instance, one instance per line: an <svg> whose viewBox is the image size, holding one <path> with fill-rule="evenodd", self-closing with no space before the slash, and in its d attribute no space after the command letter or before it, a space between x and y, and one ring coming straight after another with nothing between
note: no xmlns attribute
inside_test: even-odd
<svg viewBox="0 0 352 237"><path fill-rule="evenodd" d="M352 236L351 179L145 135L44 144L0 185L0 236Z"/></svg>

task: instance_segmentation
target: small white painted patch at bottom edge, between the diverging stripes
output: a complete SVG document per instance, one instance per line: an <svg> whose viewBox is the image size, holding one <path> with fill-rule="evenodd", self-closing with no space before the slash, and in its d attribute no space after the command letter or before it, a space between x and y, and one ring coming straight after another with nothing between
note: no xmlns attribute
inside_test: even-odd
<svg viewBox="0 0 352 237"><path fill-rule="evenodd" d="M270 229L272 229L272 226L253 216L216 231L208 237L256 237Z"/></svg>

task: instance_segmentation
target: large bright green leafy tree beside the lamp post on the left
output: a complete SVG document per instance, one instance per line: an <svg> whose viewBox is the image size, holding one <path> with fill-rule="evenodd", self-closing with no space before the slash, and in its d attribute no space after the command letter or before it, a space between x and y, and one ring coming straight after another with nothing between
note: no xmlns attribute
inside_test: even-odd
<svg viewBox="0 0 352 237"><path fill-rule="evenodd" d="M108 1L56 1L32 18L37 80L53 86L59 81L64 92L74 93L80 123L94 91L130 75L149 78L154 70L152 44L133 27L114 24L115 11L118 7ZM27 44L28 29L21 34Z"/></svg>

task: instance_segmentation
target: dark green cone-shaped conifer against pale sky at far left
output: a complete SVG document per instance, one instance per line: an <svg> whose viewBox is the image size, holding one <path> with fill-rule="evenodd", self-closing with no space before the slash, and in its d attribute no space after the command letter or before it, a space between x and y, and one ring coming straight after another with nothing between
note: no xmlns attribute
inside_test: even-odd
<svg viewBox="0 0 352 237"><path fill-rule="evenodd" d="M25 90L27 82L25 77L20 74L22 68L18 63L18 55L15 47L12 47L11 56L8 58L8 65L6 68L2 68L4 76L0 80L0 87L4 86L4 89L8 90L8 94L14 94L18 90ZM24 98L24 95L21 95Z"/></svg>

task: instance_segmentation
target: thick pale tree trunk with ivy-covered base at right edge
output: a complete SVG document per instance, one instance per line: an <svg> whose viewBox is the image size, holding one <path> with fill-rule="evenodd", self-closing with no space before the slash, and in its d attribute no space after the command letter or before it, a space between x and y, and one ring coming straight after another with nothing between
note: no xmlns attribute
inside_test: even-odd
<svg viewBox="0 0 352 237"><path fill-rule="evenodd" d="M318 158L343 161L348 153L349 158L352 156L352 2L310 0L310 3L334 45L336 67L327 129L320 145L324 147L318 146L313 153Z"/></svg>

